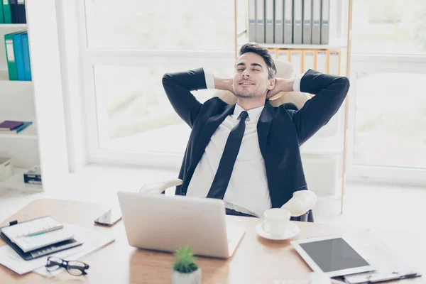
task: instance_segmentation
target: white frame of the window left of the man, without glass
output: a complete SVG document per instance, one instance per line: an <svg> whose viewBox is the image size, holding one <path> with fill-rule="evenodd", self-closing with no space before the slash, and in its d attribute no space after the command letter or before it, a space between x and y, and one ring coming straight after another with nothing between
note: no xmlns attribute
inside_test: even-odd
<svg viewBox="0 0 426 284"><path fill-rule="evenodd" d="M120 66L143 66L144 60L152 57L163 57L165 60L179 60L179 58L235 58L235 51L232 52L204 52L204 51L170 51L170 50L120 50L120 49L99 49L88 48L87 29L84 11L84 1L77 1L77 18L80 33L80 56L82 61L82 80L84 93L84 106L87 110L102 111L106 108L99 108L96 99L94 66L95 65L120 65ZM234 27L231 27L234 28ZM160 78L159 78L160 80ZM107 125L102 125L102 121L107 119L97 119L97 116L107 117L107 114L94 111L85 112L87 129L87 161L88 163L99 163L107 165L131 165L131 166L161 166L162 168L180 168L185 148L182 153L153 153L150 151L126 152L110 149L100 149L98 145L99 128L105 129Z"/></svg>

